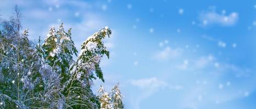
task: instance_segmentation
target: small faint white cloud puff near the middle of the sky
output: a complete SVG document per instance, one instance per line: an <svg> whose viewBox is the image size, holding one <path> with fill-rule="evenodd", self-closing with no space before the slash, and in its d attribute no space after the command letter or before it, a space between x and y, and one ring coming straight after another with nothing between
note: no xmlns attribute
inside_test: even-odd
<svg viewBox="0 0 256 109"><path fill-rule="evenodd" d="M163 51L160 51L157 54L155 54L154 58L158 60L168 60L171 58L179 57L182 54L182 52L183 49L171 49L171 47L167 46Z"/></svg>

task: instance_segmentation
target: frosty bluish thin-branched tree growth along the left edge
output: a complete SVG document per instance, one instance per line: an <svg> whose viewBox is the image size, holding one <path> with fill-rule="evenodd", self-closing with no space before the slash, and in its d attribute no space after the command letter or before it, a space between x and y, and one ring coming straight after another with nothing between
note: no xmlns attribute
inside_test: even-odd
<svg viewBox="0 0 256 109"><path fill-rule="evenodd" d="M29 41L28 29L20 33L21 14L3 20L0 39L0 107L59 108L64 101L59 76L43 62Z"/></svg>

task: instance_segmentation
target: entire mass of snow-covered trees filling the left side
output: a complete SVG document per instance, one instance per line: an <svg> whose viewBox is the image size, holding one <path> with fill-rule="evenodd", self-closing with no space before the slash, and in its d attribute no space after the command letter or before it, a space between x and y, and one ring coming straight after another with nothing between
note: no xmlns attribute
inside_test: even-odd
<svg viewBox="0 0 256 109"><path fill-rule="evenodd" d="M114 108L113 97L101 94L111 103L107 105L91 89L96 77L104 82L99 64L104 54L109 57L102 41L111 34L108 27L81 45L75 62L73 56L77 56L77 50L71 28L65 32L63 23L57 31L52 27L44 43L41 45L39 38L34 45L27 38L29 29L20 32L20 19L16 7L15 14L0 24L0 108ZM120 93L119 89L114 91ZM122 98L114 96L118 96L117 100Z"/></svg>

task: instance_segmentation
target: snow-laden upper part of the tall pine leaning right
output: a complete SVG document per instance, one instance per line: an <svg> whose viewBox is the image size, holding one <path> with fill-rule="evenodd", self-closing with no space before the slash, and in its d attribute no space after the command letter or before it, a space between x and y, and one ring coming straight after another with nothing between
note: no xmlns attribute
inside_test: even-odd
<svg viewBox="0 0 256 109"><path fill-rule="evenodd" d="M99 67L99 63L101 62L101 58L104 54L109 58L109 51L104 46L102 39L104 39L106 35L109 37L111 33L112 32L109 27L105 27L84 41L81 45L82 50L77 62L71 68L71 74L80 73L82 77L86 78L86 82L89 84L92 81L92 78L96 79L96 76L93 74L93 71L95 71L97 77L104 82L103 72Z"/></svg>

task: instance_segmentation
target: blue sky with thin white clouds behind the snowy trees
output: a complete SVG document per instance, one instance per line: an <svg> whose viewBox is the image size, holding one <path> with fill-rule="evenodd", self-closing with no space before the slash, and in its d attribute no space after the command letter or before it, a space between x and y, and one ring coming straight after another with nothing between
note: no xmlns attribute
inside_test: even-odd
<svg viewBox="0 0 256 109"><path fill-rule="evenodd" d="M255 108L256 2L248 1L7 1L17 4L31 40L64 22L81 43L113 30L101 66L109 91L120 82L126 108Z"/></svg>

